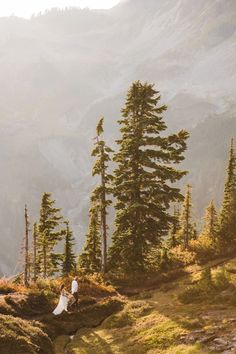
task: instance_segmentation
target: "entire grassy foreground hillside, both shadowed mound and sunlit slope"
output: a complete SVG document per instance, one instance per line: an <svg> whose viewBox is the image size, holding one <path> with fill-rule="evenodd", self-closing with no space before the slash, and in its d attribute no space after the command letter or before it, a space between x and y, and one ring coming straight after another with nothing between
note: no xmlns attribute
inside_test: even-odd
<svg viewBox="0 0 236 354"><path fill-rule="evenodd" d="M117 280L122 296L81 277L79 311L55 317L60 281L0 283L1 354L236 352L236 258Z"/></svg>

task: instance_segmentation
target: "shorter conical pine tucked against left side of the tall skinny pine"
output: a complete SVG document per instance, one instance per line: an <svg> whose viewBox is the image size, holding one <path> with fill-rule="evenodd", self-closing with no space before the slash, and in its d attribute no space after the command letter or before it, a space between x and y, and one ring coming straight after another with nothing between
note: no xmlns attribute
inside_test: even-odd
<svg viewBox="0 0 236 354"><path fill-rule="evenodd" d="M79 268L85 270L86 273L100 272L102 264L100 205L93 201L93 197L92 195L86 243L79 256Z"/></svg>

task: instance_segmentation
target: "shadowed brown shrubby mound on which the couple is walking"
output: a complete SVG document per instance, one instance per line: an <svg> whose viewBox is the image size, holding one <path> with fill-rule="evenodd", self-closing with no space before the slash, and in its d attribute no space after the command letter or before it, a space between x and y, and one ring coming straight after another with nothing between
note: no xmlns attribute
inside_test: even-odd
<svg viewBox="0 0 236 354"><path fill-rule="evenodd" d="M80 312L69 315L63 313L55 317L52 311L58 301L62 282L70 288L70 277L38 279L28 288L9 280L2 282L4 289L10 289L10 292L0 297L1 354L50 354L51 339L74 333L78 328L98 326L123 306L122 301L114 297L114 288L106 285L101 276L81 276ZM13 350L16 346L17 349Z"/></svg>

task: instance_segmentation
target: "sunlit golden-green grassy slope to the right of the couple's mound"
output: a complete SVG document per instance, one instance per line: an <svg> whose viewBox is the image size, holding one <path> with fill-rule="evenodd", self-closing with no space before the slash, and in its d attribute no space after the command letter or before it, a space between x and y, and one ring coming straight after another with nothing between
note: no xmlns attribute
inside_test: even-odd
<svg viewBox="0 0 236 354"><path fill-rule="evenodd" d="M211 284L200 266L188 267L180 280L126 299L99 327L57 338L56 353L235 353L236 259L210 265Z"/></svg>

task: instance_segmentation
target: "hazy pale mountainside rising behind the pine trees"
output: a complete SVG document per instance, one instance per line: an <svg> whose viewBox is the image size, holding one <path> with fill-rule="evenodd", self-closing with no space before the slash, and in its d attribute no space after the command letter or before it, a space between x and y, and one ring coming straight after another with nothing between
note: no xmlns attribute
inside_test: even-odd
<svg viewBox="0 0 236 354"><path fill-rule="evenodd" d="M54 9L0 18L0 272L13 273L23 209L44 191L72 221L81 249L92 184L89 152L105 116L113 145L133 80L156 84L169 131L191 132L183 183L196 217L222 197L235 125L234 0L127 0L110 10Z"/></svg>

